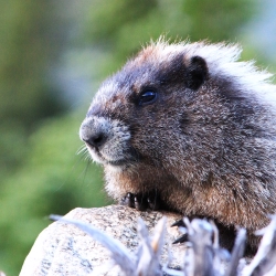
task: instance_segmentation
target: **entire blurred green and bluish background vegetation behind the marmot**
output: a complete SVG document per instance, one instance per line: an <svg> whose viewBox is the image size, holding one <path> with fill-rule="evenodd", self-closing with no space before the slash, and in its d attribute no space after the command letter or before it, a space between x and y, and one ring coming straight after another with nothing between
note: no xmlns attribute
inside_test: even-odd
<svg viewBox="0 0 276 276"><path fill-rule="evenodd" d="M0 269L19 274L50 213L110 202L100 168L76 155L103 78L161 34L240 42L273 71L259 40L272 2L0 0Z"/></svg>

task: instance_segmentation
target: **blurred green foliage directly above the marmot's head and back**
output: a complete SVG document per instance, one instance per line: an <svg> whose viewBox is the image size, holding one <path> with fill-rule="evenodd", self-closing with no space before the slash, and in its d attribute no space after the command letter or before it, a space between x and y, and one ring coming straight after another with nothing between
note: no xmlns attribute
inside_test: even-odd
<svg viewBox="0 0 276 276"><path fill-rule="evenodd" d="M110 55L104 70L110 73L125 62L126 56L161 34L172 41L236 41L240 29L256 12L254 2L96 0L88 7L79 38L88 45L98 45Z"/></svg>

